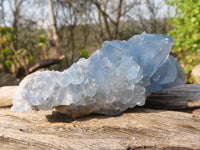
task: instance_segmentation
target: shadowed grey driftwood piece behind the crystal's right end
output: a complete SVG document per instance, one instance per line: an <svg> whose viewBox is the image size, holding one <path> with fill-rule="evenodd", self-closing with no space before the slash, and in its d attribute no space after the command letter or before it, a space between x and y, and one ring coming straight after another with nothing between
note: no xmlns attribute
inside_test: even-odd
<svg viewBox="0 0 200 150"><path fill-rule="evenodd" d="M186 84L152 93L148 97L145 107L166 110L200 107L200 84Z"/></svg>

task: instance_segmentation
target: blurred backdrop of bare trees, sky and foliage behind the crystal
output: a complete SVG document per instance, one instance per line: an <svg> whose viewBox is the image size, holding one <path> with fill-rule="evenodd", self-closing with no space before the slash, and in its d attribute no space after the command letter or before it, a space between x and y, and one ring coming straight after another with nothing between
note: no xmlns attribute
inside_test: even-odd
<svg viewBox="0 0 200 150"><path fill-rule="evenodd" d="M0 0L0 86L44 68L62 71L105 40L143 31L173 36L171 55L187 83L198 83L199 0Z"/></svg>

